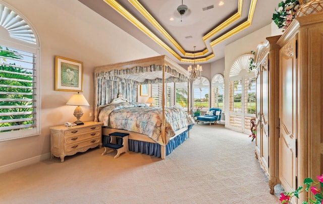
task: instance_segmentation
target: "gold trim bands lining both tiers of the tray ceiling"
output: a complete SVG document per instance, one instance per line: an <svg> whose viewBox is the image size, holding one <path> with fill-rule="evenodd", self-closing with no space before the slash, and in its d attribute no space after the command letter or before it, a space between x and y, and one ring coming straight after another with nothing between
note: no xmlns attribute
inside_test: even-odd
<svg viewBox="0 0 323 204"><path fill-rule="evenodd" d="M117 0L103 0L107 5L112 7L114 10L116 10L119 14L121 14L123 17L125 17L128 21L130 21L133 25L135 25L139 30L141 30L143 33L145 33L148 37L150 37L152 40L154 40L157 44L159 44L161 47L166 49L169 53L171 53L174 57L176 57L181 62L193 62L194 59L188 59L188 58L182 58L180 55L178 55L172 48L170 48L166 43L164 43L161 39L159 39L155 34L153 34L146 26L144 26L138 19L136 19L132 14L130 14L124 7L122 7ZM185 52L184 49L165 31L163 27L161 27L157 21L146 11L144 7L137 1L137 0L128 0L130 4L132 4L161 34L165 36L184 56L193 57L194 53ZM211 36L215 35L216 33L220 32L224 28L228 27L233 22L237 21L239 18L241 18L241 12L242 12L242 2L243 0L239 0L238 3L238 12L234 14L232 17L230 17L228 20L226 20L224 23L222 23L217 28L213 29L211 32L203 36L203 42L205 43L205 40L209 39ZM226 40L227 38L233 36L234 34L240 32L241 30L249 27L251 25L251 21L253 18L255 6L256 6L257 0L251 0L250 3L250 9L248 14L248 19L246 22L240 24L238 27L230 30L229 32L223 34L216 40L212 41L210 43L210 46L212 46ZM205 40L204 40L205 39ZM196 52L195 56L202 56L205 55L208 52L208 49L201 52ZM197 62L204 62L214 57L214 52L206 57L195 59Z"/></svg>

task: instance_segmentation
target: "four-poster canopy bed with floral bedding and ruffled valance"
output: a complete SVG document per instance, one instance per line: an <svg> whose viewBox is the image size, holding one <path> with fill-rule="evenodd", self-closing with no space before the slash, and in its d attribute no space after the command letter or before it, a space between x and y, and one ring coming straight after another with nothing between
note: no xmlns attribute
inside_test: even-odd
<svg viewBox="0 0 323 204"><path fill-rule="evenodd" d="M188 114L189 102L187 110L165 107L165 86L187 82L189 89L189 73L166 55L98 66L94 78L94 121L103 122L103 135L129 133L130 151L162 159L188 138L194 124ZM138 87L145 84L162 85L161 107L137 102Z"/></svg>

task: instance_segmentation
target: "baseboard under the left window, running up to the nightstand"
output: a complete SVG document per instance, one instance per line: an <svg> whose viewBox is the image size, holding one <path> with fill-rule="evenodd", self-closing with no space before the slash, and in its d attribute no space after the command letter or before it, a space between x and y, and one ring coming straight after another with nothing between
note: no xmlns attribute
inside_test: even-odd
<svg viewBox="0 0 323 204"><path fill-rule="evenodd" d="M50 153L46 153L46 154L39 155L39 156L36 156L36 157L32 157L32 158L28 158L28 159L21 160L21 161L18 161L18 162L14 162L14 163L11 163L11 164L7 164L7 165L4 165L4 166L0 166L0 174L8 172L8 171L11 171L11 170L14 170L14 169L18 169L18 168L21 168L21 167L24 167L24 166L35 164L37 162L40 162L40 161L43 161L43 160L46 160L46 159L49 159L49 158L50 158Z"/></svg>

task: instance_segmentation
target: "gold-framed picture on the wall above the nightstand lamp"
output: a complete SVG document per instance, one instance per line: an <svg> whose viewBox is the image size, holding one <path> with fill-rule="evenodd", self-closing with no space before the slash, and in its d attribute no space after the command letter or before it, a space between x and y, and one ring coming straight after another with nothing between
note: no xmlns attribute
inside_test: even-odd
<svg viewBox="0 0 323 204"><path fill-rule="evenodd" d="M55 56L55 91L83 92L83 62Z"/></svg>

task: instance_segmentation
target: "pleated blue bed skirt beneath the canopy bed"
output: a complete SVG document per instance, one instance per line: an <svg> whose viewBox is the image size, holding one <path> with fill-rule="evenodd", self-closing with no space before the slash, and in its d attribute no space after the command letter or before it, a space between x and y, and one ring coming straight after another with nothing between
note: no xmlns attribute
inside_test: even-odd
<svg viewBox="0 0 323 204"><path fill-rule="evenodd" d="M166 145L166 156L171 154L175 148L181 145L188 138L188 131L193 125L190 125L188 130L177 135L173 140L169 141ZM129 151L135 153L146 154L155 157L161 157L161 146L157 143L149 143L136 140L129 141Z"/></svg>

